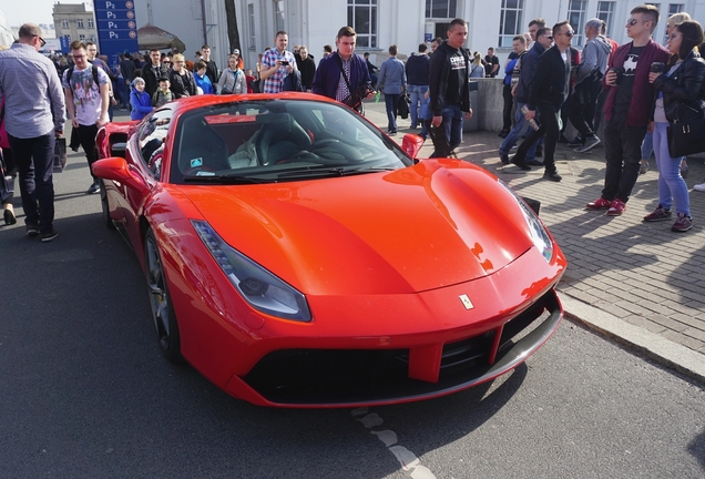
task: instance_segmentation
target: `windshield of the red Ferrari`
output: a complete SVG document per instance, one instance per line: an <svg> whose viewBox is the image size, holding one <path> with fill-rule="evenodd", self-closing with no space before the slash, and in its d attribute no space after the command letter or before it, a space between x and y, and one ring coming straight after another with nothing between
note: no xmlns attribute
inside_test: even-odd
<svg viewBox="0 0 705 479"><path fill-rule="evenodd" d="M232 102L191 111L178 121L174 151L172 183L294 181L412 164L346 106L311 100Z"/></svg>

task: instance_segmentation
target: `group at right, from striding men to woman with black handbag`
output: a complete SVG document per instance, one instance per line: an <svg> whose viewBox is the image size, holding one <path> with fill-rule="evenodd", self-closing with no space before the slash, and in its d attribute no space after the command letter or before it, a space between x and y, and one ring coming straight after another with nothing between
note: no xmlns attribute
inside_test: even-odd
<svg viewBox="0 0 705 479"><path fill-rule="evenodd" d="M559 142L579 153L602 143L604 187L585 207L620 216L640 173L648 170L653 151L658 167L658 206L643 221L675 218L671 230L686 232L693 226L684 181L687 165L684 156L671 156L667 131L684 120L680 113L684 106L705 113L705 61L699 55L703 29L687 13L676 13L666 20L668 40L662 47L652 39L658 20L654 6L633 8L625 26L631 41L617 45L606 38L604 21L590 19L584 26L582 52L572 47L575 31L568 21L549 29L543 19L532 20L527 34L514 37L513 54L505 63L499 156L502 163L521 170L543 167L544 179L559 182L562 179L554 162ZM569 121L578 132L573 140L565 137ZM601 123L602 139L597 136ZM695 190L705 191L705 183Z"/></svg>

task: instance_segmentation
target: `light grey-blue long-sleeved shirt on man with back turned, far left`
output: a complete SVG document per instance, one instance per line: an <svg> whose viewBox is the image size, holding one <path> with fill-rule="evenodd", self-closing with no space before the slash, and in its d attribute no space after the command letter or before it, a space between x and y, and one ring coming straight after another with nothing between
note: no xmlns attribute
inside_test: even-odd
<svg viewBox="0 0 705 479"><path fill-rule="evenodd" d="M19 139L63 131L63 90L54 64L34 47L14 43L0 51L0 94L6 98L4 128Z"/></svg>

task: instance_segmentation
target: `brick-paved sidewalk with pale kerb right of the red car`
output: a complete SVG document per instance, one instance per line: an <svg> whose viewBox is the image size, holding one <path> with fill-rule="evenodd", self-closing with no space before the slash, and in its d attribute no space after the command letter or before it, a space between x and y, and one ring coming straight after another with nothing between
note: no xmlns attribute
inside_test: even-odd
<svg viewBox="0 0 705 479"><path fill-rule="evenodd" d="M366 103L366 116L387 130L384 103ZM400 144L409 120L397 121ZM655 162L640 175L625 213L606 216L585 210L604 181L604 147L574 153L559 144L563 181L543 170L521 172L499 160L497 132L470 132L458 157L495 173L524 196L541 202L541 218L565 253L569 267L559 286L566 316L625 343L681 373L705 380L705 193L692 186L705 179L702 157L688 160L694 226L671 232L672 221L643 223L658 203ZM430 140L421 151L432 151Z"/></svg>

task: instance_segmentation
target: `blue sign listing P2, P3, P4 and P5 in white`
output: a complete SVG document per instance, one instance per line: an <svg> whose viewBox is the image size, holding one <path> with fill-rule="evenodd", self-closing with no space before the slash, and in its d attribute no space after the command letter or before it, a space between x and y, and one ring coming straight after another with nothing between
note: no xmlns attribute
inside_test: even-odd
<svg viewBox="0 0 705 479"><path fill-rule="evenodd" d="M134 53L137 45L137 21L134 2L131 0L93 0L98 41L101 54L108 55L108 63L120 63L120 53Z"/></svg>

